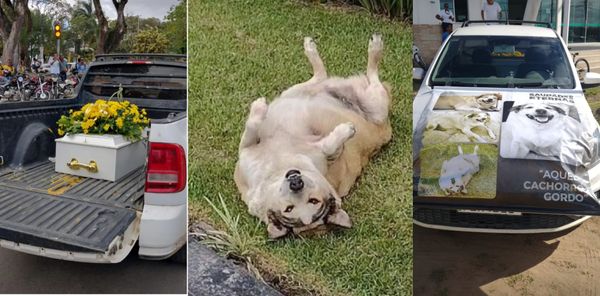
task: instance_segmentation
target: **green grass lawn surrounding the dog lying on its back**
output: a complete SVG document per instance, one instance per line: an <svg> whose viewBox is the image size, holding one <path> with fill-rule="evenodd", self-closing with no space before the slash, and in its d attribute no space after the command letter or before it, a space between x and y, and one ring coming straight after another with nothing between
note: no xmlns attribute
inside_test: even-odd
<svg viewBox="0 0 600 296"><path fill-rule="evenodd" d="M351 230L267 241L233 182L237 146L250 103L305 81L304 36L315 38L334 75L364 72L367 43L383 34L380 76L393 86L392 142L372 160L345 201ZM412 294L410 25L362 10L299 1L189 3L190 223L227 231L205 201L222 196L240 216L254 265L290 294ZM273 280L275 279L275 280ZM295 287L292 287L295 286ZM304 291L304 292L303 292Z"/></svg>

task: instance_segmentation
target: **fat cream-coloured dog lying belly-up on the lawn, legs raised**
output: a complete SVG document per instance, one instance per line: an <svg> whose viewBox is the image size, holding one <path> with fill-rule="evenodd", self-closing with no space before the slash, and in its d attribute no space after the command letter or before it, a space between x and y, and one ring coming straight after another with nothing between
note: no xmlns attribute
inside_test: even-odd
<svg viewBox="0 0 600 296"><path fill-rule="evenodd" d="M379 80L383 42L369 42L366 75L328 77L316 44L304 41L313 77L271 104L250 107L235 182L269 237L324 224L351 227L342 209L369 158L391 139L390 93Z"/></svg>

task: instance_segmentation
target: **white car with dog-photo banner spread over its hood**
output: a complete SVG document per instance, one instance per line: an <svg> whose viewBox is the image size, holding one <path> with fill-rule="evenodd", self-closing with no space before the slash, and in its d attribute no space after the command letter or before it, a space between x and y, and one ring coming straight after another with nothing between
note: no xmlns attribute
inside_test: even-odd
<svg viewBox="0 0 600 296"><path fill-rule="evenodd" d="M580 82L540 25L467 22L426 73L413 69L416 225L539 233L600 215L600 132L583 93L600 75Z"/></svg>

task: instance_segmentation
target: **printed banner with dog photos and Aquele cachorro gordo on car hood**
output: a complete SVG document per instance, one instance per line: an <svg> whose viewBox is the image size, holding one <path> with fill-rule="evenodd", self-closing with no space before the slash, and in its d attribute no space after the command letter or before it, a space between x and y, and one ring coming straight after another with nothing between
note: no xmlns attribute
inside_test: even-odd
<svg viewBox="0 0 600 296"><path fill-rule="evenodd" d="M413 135L416 201L600 215L600 131L583 95L435 90Z"/></svg>

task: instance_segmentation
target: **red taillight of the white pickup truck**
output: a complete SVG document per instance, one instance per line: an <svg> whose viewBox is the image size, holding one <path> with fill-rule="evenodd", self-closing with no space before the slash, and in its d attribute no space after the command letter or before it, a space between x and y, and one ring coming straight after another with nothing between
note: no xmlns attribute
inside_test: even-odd
<svg viewBox="0 0 600 296"><path fill-rule="evenodd" d="M146 192L179 192L185 188L186 173L183 147L170 143L150 143Z"/></svg>

